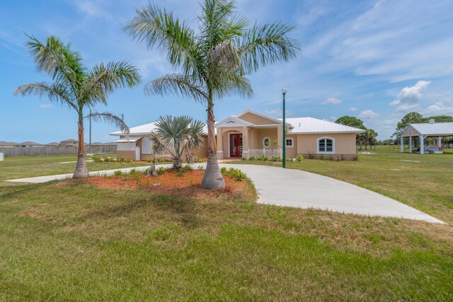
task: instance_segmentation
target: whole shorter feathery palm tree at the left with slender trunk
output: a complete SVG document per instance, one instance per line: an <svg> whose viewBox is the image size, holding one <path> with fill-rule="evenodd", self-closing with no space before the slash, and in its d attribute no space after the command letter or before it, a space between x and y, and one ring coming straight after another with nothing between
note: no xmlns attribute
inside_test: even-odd
<svg viewBox="0 0 453 302"><path fill-rule="evenodd" d="M79 151L73 178L87 178L84 153L84 119L104 120L120 127L125 133L129 131L120 117L108 112L94 112L84 116L84 109L93 108L98 103L107 105L107 98L117 88L134 87L140 83L137 69L127 62L109 62L98 64L88 70L82 64L79 52L71 50L71 45L64 44L57 37L47 37L42 44L35 37L26 46L30 50L38 71L49 74L52 83L29 83L19 86L15 95L46 96L50 101L67 105L77 112L79 131Z"/></svg>

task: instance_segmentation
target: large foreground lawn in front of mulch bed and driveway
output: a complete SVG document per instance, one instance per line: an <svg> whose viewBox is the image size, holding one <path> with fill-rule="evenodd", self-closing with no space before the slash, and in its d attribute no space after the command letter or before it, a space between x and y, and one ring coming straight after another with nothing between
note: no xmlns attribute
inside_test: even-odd
<svg viewBox="0 0 453 302"><path fill-rule="evenodd" d="M240 196L0 190L2 301L451 301L452 250L451 226Z"/></svg>

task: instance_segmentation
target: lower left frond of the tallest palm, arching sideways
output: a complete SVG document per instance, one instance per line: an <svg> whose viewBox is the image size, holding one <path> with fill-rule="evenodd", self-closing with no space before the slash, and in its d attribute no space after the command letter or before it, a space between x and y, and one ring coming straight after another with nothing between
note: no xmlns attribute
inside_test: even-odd
<svg viewBox="0 0 453 302"><path fill-rule="evenodd" d="M173 95L193 98L200 103L204 103L207 99L207 94L203 91L202 87L195 86L188 76L183 76L182 74L166 74L158 79L149 81L144 87L144 91L147 95L166 95L167 93L171 93Z"/></svg>

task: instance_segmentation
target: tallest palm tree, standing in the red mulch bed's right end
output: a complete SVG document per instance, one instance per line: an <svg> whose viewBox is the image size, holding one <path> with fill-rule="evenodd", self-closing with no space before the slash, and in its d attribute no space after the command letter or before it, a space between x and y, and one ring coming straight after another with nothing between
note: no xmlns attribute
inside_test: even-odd
<svg viewBox="0 0 453 302"><path fill-rule="evenodd" d="M236 94L251 97L246 74L278 61L288 61L300 49L297 40L287 37L292 26L271 23L248 27L247 18L234 14L234 1L205 0L198 16L199 30L158 6L149 4L127 23L133 39L145 41L166 52L168 61L180 74L167 74L150 81L145 93L173 93L207 106L207 168L205 189L225 187L217 163L214 137L214 100Z"/></svg>

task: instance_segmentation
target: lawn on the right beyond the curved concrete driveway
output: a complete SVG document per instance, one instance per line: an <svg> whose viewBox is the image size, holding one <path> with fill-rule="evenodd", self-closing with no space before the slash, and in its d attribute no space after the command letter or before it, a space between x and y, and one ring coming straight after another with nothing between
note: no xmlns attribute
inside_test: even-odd
<svg viewBox="0 0 453 302"><path fill-rule="evenodd" d="M400 153L398 146L394 150L388 146L379 146L377 151L367 152L376 154L358 153L358 161L338 163L304 159L302 162L287 162L287 168L350 182L408 204L447 223L453 223L452 149L444 154L420 155ZM282 165L264 161L236 163Z"/></svg>

